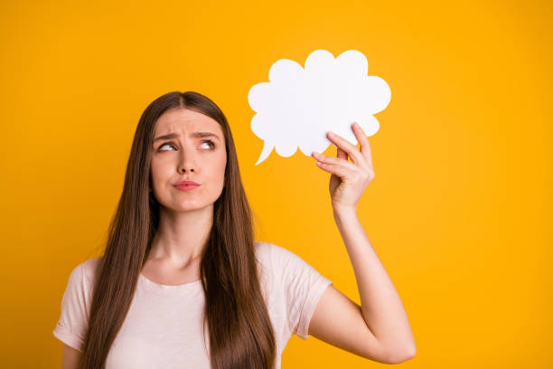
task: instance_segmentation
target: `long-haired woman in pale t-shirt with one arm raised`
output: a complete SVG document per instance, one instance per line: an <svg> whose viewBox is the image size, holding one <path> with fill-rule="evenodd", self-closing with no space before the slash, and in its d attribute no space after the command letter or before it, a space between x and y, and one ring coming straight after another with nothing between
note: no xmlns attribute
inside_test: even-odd
<svg viewBox="0 0 553 369"><path fill-rule="evenodd" d="M254 241L227 119L197 92L144 111L106 250L70 274L53 334L63 368L279 368L293 335L380 363L415 355L398 293L356 215L370 146L329 135L333 215L361 307L291 251ZM348 160L351 157L352 163Z"/></svg>

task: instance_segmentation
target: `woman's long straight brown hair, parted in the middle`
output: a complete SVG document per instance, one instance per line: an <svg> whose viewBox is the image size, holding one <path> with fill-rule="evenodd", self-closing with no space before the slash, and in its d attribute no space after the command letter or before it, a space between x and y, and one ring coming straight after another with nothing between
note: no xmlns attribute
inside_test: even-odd
<svg viewBox="0 0 553 369"><path fill-rule="evenodd" d="M273 368L275 336L259 285L252 212L230 127L211 99L193 91L160 96L150 103L138 122L123 192L96 271L80 366L104 367L135 294L159 221L159 203L149 191L155 122L172 108L193 109L215 119L226 142L224 187L213 204L211 234L200 262L205 293L203 324L209 332L211 367Z"/></svg>

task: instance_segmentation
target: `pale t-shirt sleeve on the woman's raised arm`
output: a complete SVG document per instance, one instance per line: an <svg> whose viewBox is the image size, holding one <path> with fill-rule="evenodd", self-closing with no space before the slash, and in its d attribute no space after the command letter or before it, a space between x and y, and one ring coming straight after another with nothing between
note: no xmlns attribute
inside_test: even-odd
<svg viewBox="0 0 553 369"><path fill-rule="evenodd" d="M273 262L284 289L290 331L306 340L314 309L333 282L292 251L277 245L273 245Z"/></svg>

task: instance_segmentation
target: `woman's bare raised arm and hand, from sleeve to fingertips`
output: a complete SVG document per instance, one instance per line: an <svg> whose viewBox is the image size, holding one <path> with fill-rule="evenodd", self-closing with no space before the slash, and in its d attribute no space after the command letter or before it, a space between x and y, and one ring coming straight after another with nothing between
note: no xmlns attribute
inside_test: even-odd
<svg viewBox="0 0 553 369"><path fill-rule="evenodd" d="M374 179L374 169L369 140L358 124L351 128L361 148L329 132L336 156L314 152L313 157L316 166L331 173L334 221L350 256L361 306L330 285L315 307L308 332L353 354L399 364L413 358L417 349L398 291L357 216L357 203Z"/></svg>

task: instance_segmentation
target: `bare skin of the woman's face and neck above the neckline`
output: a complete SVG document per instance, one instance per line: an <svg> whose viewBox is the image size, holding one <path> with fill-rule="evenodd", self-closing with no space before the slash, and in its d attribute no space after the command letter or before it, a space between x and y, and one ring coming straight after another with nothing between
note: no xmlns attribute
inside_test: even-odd
<svg viewBox="0 0 553 369"><path fill-rule="evenodd" d="M213 137L192 137L210 132ZM169 109L155 123L151 175L160 203L160 222L142 274L157 283L179 285L199 280L199 262L213 222L213 203L223 185L227 152L220 124L191 109ZM201 184L191 191L179 181Z"/></svg>

